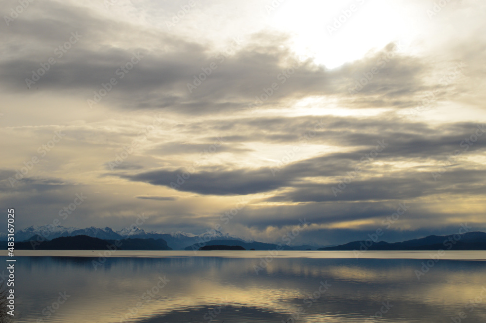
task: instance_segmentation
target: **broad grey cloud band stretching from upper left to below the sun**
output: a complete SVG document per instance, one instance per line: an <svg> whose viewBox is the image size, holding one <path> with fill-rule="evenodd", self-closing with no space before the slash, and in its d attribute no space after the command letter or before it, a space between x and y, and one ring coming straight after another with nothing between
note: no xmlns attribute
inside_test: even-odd
<svg viewBox="0 0 486 323"><path fill-rule="evenodd" d="M86 8L51 1L33 13L20 17L11 26L4 49L17 44L35 50L0 61L2 79L8 80L3 85L20 93L28 93L25 79L32 78L32 71L41 68L40 64L51 56L55 65L40 77L35 87L68 91L87 100L95 97L95 91L99 93L102 84L115 78L117 84L103 101L130 110L158 108L191 114L239 111L259 103L258 97L268 89L273 93L260 108L312 95L337 96L353 108L384 107L390 103L412 107L417 103L411 100L413 94L428 89L422 81L423 75L429 73L426 63L392 51L393 44L362 60L329 70L310 59L298 59L290 50L288 35L282 33L260 32L233 40L230 44L234 53L228 55L212 51L209 44L201 45L168 32L149 32L125 22L110 21ZM45 16L50 19L35 18ZM56 57L54 50L69 39L71 32L79 33L80 40L62 57ZM18 39L26 35L34 44L18 44ZM134 43L138 46L133 46ZM381 57L390 52L394 57L386 63ZM119 68L129 64L138 53L139 63L121 77ZM216 68L212 70L209 66ZM358 95L349 98L348 88L375 66L381 68L380 74ZM208 68L211 74L203 75ZM204 80L196 81L201 84L190 92L188 84L198 78ZM272 84L278 88L272 89ZM362 97L367 99L364 101Z"/></svg>

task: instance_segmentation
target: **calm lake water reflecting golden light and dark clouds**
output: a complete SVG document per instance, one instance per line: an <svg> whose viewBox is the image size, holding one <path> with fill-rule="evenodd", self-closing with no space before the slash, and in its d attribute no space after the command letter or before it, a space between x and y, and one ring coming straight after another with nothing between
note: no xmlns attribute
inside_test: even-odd
<svg viewBox="0 0 486 323"><path fill-rule="evenodd" d="M485 252L23 254L18 322L486 322Z"/></svg>

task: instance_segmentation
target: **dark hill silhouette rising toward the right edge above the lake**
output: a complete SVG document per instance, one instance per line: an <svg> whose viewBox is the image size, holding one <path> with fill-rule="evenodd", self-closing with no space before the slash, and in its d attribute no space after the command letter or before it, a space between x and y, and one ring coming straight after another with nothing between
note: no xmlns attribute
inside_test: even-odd
<svg viewBox="0 0 486 323"><path fill-rule="evenodd" d="M346 250L486 250L485 232L467 232L461 235L428 236L403 242L388 243L371 240L348 242L334 247L324 247L317 250L346 251Z"/></svg>

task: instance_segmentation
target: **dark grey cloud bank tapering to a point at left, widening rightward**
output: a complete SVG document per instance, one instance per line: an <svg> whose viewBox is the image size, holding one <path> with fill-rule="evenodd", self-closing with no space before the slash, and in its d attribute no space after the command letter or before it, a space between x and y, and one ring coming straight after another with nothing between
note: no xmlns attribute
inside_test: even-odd
<svg viewBox="0 0 486 323"><path fill-rule="evenodd" d="M349 121L349 118L347 120L352 122ZM292 122L284 119L279 119L279 121L276 129L285 121ZM357 121L357 123L359 122ZM273 127L272 122L269 122L269 124L270 126L267 129ZM436 183L431 182L434 180L431 174L442 172L442 166L452 168L448 172L448 175L450 175L448 176L448 185L477 182L478 177L476 176L482 175L482 170L468 170L464 168L464 165L454 166L455 160L457 160L454 153L458 153L457 155L460 156L485 150L486 142L484 140L466 143L466 140L470 138L469 134L474 134L476 130L481 129L478 125L461 123L442 125L440 129L431 129L424 125L415 124L413 125L415 128L408 129L409 132L405 130L406 124L401 126L402 129L387 125L388 132L383 133L381 130L384 124L375 129L380 134L373 134L370 129L365 130L367 134L359 131L349 133L343 131L346 125L341 132L323 131L317 133L318 136L316 135L316 142L314 142L314 144L317 144L316 147L318 147L319 142L339 142L343 147L346 147L347 152L323 154L285 165L276 164L274 167L263 167L257 170L228 170L224 166L220 166L213 170L192 170L191 173L184 169L150 170L119 176L131 181L172 187L203 195L245 195L269 192L283 187L295 187L297 189L294 192L285 196L275 196L270 198L269 201L322 202L386 200L394 197L411 199L442 192L446 187L437 186ZM394 128L395 131L392 131L391 128ZM420 136L419 131L423 135ZM431 135L434 132L435 136ZM427 134L427 139L424 134ZM270 139L266 140L271 141ZM355 147L354 150L351 147ZM374 150L377 150L375 153L378 151L379 153L370 156L370 153ZM400 172L389 168L381 169L373 164L374 161L417 163L418 160L422 162L434 160L435 163L430 164L426 171L401 170ZM436 165L437 163L439 165ZM362 167L363 170L356 176L356 180L354 177L352 178L354 183L346 188L345 194L336 196L332 192L332 187L337 187L339 181L349 176L347 175L348 172L353 172L357 166ZM427 167L422 166L422 168ZM474 171L477 171L478 174L471 176ZM391 172L388 175L390 178L382 179L383 172ZM366 177L371 177L371 179L362 180L363 174ZM182 178L182 175L185 178ZM454 181L450 182L452 179ZM325 180L327 183L315 184L315 180ZM315 193L314 190L318 190L320 193ZM458 194L463 192L463 190L456 191L451 187L448 190L451 193ZM471 191L471 193L473 192Z"/></svg>

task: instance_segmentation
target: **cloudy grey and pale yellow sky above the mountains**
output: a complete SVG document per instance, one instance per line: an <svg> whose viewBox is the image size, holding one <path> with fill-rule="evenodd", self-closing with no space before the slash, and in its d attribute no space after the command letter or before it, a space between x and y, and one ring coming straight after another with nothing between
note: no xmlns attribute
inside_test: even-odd
<svg viewBox="0 0 486 323"><path fill-rule="evenodd" d="M486 231L485 10L1 1L0 204L17 230Z"/></svg>

